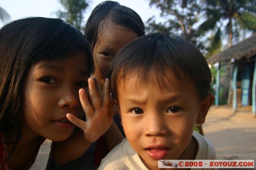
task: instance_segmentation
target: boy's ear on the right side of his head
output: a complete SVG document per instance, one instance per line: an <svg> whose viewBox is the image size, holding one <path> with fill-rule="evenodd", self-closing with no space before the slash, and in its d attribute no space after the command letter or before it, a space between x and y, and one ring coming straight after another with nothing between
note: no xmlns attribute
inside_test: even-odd
<svg viewBox="0 0 256 170"><path fill-rule="evenodd" d="M204 99L201 101L199 105L199 113L196 120L197 124L203 124L205 121L205 117L208 113L208 110L212 106L213 102L215 100L215 97L212 93L207 94L207 96L204 97Z"/></svg>

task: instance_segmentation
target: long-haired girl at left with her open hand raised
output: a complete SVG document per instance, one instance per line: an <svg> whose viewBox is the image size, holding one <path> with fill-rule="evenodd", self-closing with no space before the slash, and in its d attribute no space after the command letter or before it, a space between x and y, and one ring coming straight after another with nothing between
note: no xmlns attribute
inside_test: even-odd
<svg viewBox="0 0 256 170"><path fill-rule="evenodd" d="M108 80L100 104L90 78L94 71L90 45L63 20L24 18L2 27L0 63L1 170L29 169L45 138L66 140L74 125L82 131L52 149L65 153L76 141L83 143L84 153L111 125ZM88 83L92 106L85 94ZM86 122L78 119L84 112ZM76 154L80 153L56 158L69 160Z"/></svg>

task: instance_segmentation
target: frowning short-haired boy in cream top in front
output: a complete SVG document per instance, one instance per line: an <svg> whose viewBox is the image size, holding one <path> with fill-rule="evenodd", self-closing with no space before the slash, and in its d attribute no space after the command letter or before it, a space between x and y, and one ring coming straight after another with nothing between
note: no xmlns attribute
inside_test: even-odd
<svg viewBox="0 0 256 170"><path fill-rule="evenodd" d="M158 169L159 159L215 159L211 142L193 132L214 101L211 72L193 44L148 34L121 49L110 70L126 138L99 169Z"/></svg>

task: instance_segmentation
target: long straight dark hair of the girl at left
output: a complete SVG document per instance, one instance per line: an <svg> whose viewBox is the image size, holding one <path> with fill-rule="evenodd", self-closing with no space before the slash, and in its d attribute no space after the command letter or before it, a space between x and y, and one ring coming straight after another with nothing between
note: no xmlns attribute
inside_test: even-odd
<svg viewBox="0 0 256 170"><path fill-rule="evenodd" d="M16 134L12 152L22 135L22 91L32 64L64 61L80 50L85 51L93 73L90 44L79 30L61 19L23 18L0 29L0 132Z"/></svg>

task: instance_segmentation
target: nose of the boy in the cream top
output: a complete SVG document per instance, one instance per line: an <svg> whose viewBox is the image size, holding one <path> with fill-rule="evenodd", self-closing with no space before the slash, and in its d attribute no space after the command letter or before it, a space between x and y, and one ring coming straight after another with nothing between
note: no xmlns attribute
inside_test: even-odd
<svg viewBox="0 0 256 170"><path fill-rule="evenodd" d="M145 135L146 136L165 136L168 135L168 126L164 121L164 116L155 114L148 116L145 122Z"/></svg>

